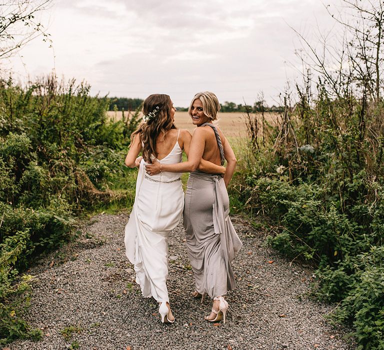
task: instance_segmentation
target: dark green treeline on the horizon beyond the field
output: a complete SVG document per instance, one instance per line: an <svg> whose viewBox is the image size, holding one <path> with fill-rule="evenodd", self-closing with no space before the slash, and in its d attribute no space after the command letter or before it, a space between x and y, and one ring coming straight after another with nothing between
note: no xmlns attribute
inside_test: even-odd
<svg viewBox="0 0 384 350"><path fill-rule="evenodd" d="M109 110L136 110L141 108L143 100L141 98L128 98L128 97L111 97L109 102ZM284 108L281 106L267 106L261 101L255 102L252 106L244 104L236 104L234 102L225 101L221 104L222 112L283 112ZM188 107L177 107L177 110L187 111Z"/></svg>

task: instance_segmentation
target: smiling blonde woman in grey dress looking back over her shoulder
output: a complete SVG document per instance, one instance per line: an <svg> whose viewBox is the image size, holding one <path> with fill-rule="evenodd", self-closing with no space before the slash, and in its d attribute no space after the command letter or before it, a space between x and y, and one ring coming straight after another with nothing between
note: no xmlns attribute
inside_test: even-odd
<svg viewBox="0 0 384 350"><path fill-rule="evenodd" d="M225 323L228 303L224 294L235 287L230 263L242 243L228 216L229 199L226 191L236 158L222 131L212 123L219 109L220 104L214 93L197 93L188 110L192 123L197 126L190 142L188 161L162 166L155 162L147 165L146 170L152 174L160 170L192 171L188 178L183 212L186 247L196 285L192 295L202 298L208 294L213 303L205 319L213 322L223 318ZM222 165L225 159L224 176L201 172L198 169L201 159L217 165Z"/></svg>

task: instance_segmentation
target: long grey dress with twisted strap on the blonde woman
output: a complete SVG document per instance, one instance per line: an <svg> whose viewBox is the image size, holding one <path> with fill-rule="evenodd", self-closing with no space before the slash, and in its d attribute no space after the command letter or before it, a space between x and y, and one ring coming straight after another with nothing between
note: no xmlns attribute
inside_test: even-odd
<svg viewBox="0 0 384 350"><path fill-rule="evenodd" d="M211 123L221 164L224 152L220 136ZM223 178L194 171L189 174L183 212L186 247L194 273L196 290L211 298L236 286L231 261L241 248L229 214L229 198Z"/></svg>

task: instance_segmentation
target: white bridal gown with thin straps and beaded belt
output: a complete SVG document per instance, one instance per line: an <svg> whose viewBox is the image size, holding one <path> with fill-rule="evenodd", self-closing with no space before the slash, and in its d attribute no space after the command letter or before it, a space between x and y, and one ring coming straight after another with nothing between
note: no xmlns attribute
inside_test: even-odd
<svg viewBox="0 0 384 350"><path fill-rule="evenodd" d="M180 132L180 131L179 131ZM182 150L176 143L161 160L163 164L181 161ZM146 162L141 160L136 195L128 223L125 226L125 253L134 264L136 282L144 297L169 301L165 280L168 275L168 236L180 220L184 193L180 173L156 175L145 173Z"/></svg>

